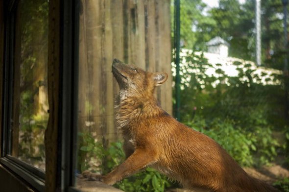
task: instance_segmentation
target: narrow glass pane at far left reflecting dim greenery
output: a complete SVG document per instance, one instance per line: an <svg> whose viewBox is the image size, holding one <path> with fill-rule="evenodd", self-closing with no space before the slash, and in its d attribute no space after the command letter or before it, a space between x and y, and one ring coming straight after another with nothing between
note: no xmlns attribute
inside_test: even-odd
<svg viewBox="0 0 289 192"><path fill-rule="evenodd" d="M48 0L21 0L16 13L12 155L45 170L48 122Z"/></svg>

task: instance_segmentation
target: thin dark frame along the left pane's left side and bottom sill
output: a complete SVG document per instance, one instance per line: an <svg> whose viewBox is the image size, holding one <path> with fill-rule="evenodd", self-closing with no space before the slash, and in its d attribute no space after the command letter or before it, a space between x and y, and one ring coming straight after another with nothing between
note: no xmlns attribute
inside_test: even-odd
<svg viewBox="0 0 289 192"><path fill-rule="evenodd" d="M44 191L44 172L10 155L11 153L11 124L13 103L13 67L15 49L15 17L18 1L4 1L4 42L3 42L3 89L2 89L2 140L0 163L19 175L38 191Z"/></svg>

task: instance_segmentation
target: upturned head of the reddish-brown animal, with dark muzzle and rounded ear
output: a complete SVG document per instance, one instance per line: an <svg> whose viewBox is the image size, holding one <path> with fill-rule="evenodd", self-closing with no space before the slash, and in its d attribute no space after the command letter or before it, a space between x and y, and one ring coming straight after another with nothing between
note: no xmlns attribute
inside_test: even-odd
<svg viewBox="0 0 289 192"><path fill-rule="evenodd" d="M125 92L126 96L150 96L155 87L163 84L168 78L165 72L145 72L117 59L113 61L112 72L119 83L120 92Z"/></svg>

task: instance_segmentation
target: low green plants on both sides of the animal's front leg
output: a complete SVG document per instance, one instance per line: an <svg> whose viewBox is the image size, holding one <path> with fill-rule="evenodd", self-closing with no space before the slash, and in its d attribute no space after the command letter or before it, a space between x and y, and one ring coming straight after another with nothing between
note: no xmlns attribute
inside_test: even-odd
<svg viewBox="0 0 289 192"><path fill-rule="evenodd" d="M122 143L111 143L104 149L90 133L78 135L81 141L78 150L78 168L81 171L88 169L106 174L125 160ZM152 168L146 168L114 185L125 192L164 192L170 186L172 184L168 178Z"/></svg>

